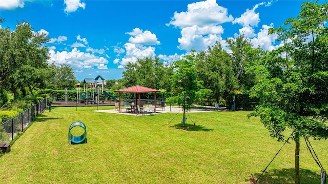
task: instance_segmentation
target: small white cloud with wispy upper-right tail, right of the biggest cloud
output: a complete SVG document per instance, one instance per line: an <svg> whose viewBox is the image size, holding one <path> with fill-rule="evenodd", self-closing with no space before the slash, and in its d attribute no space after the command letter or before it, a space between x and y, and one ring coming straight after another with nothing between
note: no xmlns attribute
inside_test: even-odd
<svg viewBox="0 0 328 184"><path fill-rule="evenodd" d="M260 22L259 13L255 13L255 10L259 5L263 5L264 3L256 4L252 10L247 9L246 12L241 14L240 17L235 18L232 22L233 24L240 24L242 26L257 26Z"/></svg>

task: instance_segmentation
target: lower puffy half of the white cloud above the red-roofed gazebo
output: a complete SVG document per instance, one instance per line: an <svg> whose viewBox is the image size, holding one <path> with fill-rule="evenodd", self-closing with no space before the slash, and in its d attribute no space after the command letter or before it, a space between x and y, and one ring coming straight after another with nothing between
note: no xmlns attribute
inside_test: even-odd
<svg viewBox="0 0 328 184"><path fill-rule="evenodd" d="M129 62L135 63L138 58L155 57L154 47L145 47L142 45L126 43L124 44L126 55L121 59L114 59L114 64L118 64L118 68L124 68Z"/></svg>

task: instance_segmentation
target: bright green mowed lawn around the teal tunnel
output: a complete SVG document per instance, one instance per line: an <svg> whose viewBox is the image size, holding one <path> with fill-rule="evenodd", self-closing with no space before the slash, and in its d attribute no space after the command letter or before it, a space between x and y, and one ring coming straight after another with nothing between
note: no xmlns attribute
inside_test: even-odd
<svg viewBox="0 0 328 184"><path fill-rule="evenodd" d="M257 178L283 144L258 118L247 118L249 112L189 113L196 126L187 116L186 131L182 113L168 126L176 113L129 116L93 110L60 107L38 116L11 152L0 157L0 182L252 183L250 175ZM68 144L74 121L86 125L87 144ZM290 142L259 183L294 183L295 142ZM326 140L312 140L328 168L326 145ZM300 168L302 183L320 183L320 168L303 140Z"/></svg>

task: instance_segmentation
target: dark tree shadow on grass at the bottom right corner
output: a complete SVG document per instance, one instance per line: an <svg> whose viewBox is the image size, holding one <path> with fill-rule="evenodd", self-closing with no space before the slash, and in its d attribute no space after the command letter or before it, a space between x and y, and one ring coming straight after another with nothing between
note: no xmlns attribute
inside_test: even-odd
<svg viewBox="0 0 328 184"><path fill-rule="evenodd" d="M319 169L318 169L319 170ZM300 181L301 183L320 183L320 174L310 171L308 169L300 169ZM252 176L255 180L261 175L255 173ZM248 178L245 181L250 181ZM257 181L259 184L288 184L295 183L294 168L289 169L274 169L272 171L266 171Z"/></svg>

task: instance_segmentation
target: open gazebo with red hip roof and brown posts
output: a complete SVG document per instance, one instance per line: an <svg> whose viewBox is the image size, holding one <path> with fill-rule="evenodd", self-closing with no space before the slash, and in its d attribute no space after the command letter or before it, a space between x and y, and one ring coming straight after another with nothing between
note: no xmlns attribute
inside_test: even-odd
<svg viewBox="0 0 328 184"><path fill-rule="evenodd" d="M119 101L121 101L121 93L135 93L135 98L137 99L138 95L138 100L136 101L136 105L140 104L140 93L151 93L154 92L154 105L155 105L155 112L156 112L156 92L160 92L159 90L155 90L152 88L147 88L144 86L132 86L129 88L124 88L120 90L116 90L114 92L119 92ZM121 106L119 106L119 112L121 112Z"/></svg>

